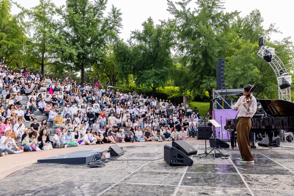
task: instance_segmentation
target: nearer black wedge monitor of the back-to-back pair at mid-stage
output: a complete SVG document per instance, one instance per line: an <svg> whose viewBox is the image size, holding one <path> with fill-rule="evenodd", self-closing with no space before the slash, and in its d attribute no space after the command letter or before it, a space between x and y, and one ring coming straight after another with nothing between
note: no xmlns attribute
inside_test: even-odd
<svg viewBox="0 0 294 196"><path fill-rule="evenodd" d="M174 147L165 145L163 152L164 160L168 163L168 165L193 165L193 160L190 157Z"/></svg>

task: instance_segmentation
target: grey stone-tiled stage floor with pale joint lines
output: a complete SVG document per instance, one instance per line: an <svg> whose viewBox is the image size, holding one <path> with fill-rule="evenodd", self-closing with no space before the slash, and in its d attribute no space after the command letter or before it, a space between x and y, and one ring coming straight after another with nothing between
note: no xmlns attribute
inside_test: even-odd
<svg viewBox="0 0 294 196"><path fill-rule="evenodd" d="M252 150L254 165L238 161L237 147L220 149L229 159L193 155L192 166L175 167L163 159L150 161L156 150L158 158L163 157L165 142L136 144L123 147L127 152L118 158L122 161L111 161L102 168L33 164L0 180L0 195L294 195L292 148L258 147ZM204 143L190 144L198 153L205 150ZM281 145L294 147L294 143Z"/></svg>

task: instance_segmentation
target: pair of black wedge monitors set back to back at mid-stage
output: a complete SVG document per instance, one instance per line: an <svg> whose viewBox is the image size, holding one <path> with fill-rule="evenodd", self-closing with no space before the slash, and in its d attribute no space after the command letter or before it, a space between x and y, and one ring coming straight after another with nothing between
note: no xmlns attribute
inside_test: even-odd
<svg viewBox="0 0 294 196"><path fill-rule="evenodd" d="M165 145L163 152L164 160L173 166L193 165L188 156L197 154L197 150L184 140L173 141L172 146Z"/></svg>

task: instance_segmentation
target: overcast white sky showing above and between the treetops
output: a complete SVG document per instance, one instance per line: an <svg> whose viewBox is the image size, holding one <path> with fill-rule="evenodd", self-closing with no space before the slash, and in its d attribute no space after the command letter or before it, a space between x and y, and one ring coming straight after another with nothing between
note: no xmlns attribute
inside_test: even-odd
<svg viewBox="0 0 294 196"><path fill-rule="evenodd" d="M14 1L27 9L34 7L39 3L39 0ZM56 4L56 6L61 6L65 4L65 0L53 0L53 2ZM166 0L108 0L107 11L110 10L111 4L113 4L118 9L121 9L121 13L123 13L123 29L121 29L120 37L123 38L125 41L130 37L131 31L135 29L142 30L141 24L148 17L151 16L156 24L159 23L159 19L164 20L173 17L169 14L168 11L166 11ZM195 7L196 4L191 2L189 6ZM279 30L283 32L283 34L272 34L272 40L282 40L285 37L293 36L294 27L291 22L293 19L293 7L294 1L289 0L225 0L225 11L241 11L241 17L246 16L254 9L259 9L261 12L261 16L264 19L264 29L267 29L270 23L275 23L275 26L279 27ZM12 14L16 14L18 12L19 9L16 6L13 6ZM293 37L291 38L291 40L294 41Z"/></svg>

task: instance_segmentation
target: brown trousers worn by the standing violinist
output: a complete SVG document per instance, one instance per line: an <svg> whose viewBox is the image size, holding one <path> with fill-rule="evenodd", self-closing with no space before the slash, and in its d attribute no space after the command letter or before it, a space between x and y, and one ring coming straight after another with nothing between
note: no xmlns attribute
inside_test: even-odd
<svg viewBox="0 0 294 196"><path fill-rule="evenodd" d="M244 161L253 161L254 158L251 155L249 131L251 129L250 117L239 117L239 122L236 127L237 130L237 142L240 150L241 157Z"/></svg>

